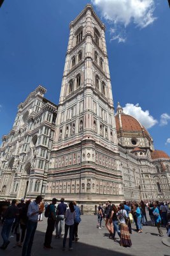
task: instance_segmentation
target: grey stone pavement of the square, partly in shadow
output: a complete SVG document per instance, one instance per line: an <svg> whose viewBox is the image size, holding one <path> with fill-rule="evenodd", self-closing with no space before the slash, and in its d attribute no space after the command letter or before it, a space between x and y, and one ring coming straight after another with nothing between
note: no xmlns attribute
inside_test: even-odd
<svg viewBox="0 0 170 256"><path fill-rule="evenodd" d="M36 235L34 237L34 244L32 246L32 256L170 256L170 248L162 243L162 237L157 236L157 227L145 226L143 227L143 234L138 234L132 231L131 240L132 247L124 248L117 242L109 239L106 228L99 230L97 226L97 216L83 215L81 216L81 223L78 227L78 236L80 237L77 243L73 243L73 251L62 252L62 239L55 239L53 236L53 249L43 249L43 242L46 231L46 218L38 223ZM103 222L104 225L104 222ZM132 228L134 225L132 224ZM164 236L166 236L166 228L162 228ZM118 237L116 235L116 237ZM11 243L8 248L3 251L0 250L1 256L20 256L22 248L13 248L15 244L15 237L10 237ZM0 237L0 244L2 238Z"/></svg>

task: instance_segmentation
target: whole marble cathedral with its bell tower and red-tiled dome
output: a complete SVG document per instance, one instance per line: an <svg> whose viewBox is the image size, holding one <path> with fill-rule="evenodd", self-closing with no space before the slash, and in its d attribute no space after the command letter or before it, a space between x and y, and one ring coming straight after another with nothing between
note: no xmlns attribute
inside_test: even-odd
<svg viewBox="0 0 170 256"><path fill-rule="evenodd" d="M169 156L120 104L115 114L104 24L87 4L69 28L59 104L38 86L3 136L0 198L64 196L86 211L106 200L169 200Z"/></svg>

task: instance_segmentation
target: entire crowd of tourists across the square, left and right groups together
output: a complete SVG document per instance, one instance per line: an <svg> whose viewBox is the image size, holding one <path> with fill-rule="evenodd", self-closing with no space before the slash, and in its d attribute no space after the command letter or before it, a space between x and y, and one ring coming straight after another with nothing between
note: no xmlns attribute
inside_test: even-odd
<svg viewBox="0 0 170 256"><path fill-rule="evenodd" d="M69 232L69 250L73 250L73 241L78 241L78 225L81 221L80 208L76 205L76 201L69 202L67 205L64 198L53 198L50 204L44 203L39 195L35 200L27 200L24 198L18 203L17 200L6 202L6 208L0 215L0 221L3 224L1 236L3 244L1 250L6 250L10 244L10 232L16 236L16 244L13 247L22 248L22 256L30 256L34 234L38 225L38 221L42 221L42 212L47 218L47 228L43 248L52 249L52 236L55 230L55 237L61 238L62 228L64 225L64 237L62 240L62 250L66 249L66 239ZM131 223L136 225L136 232L142 233L143 226L148 225L146 211L150 216L150 222L156 226L159 236L163 236L161 225L167 228L167 236L170 236L170 204L165 202L122 202L116 206L110 201L105 205L99 203L97 209L98 223L97 227L101 229L104 225L108 230L108 236L114 241L118 241L116 234L120 237L118 243L120 246L131 247ZM65 221L64 221L65 220Z"/></svg>

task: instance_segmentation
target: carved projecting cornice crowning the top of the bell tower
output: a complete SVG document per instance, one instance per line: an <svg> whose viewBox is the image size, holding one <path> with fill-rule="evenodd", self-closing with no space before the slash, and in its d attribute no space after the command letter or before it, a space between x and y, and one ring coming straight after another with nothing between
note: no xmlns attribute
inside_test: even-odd
<svg viewBox="0 0 170 256"><path fill-rule="evenodd" d="M84 8L84 10L76 17L76 19L74 19L73 21L70 22L69 24L69 29L74 28L74 26L76 26L76 24L79 22L79 20L81 20L83 18L83 16L87 13L87 11L89 11L92 13L92 16L94 17L94 19L96 20L97 24L101 27L101 29L103 29L105 31L106 27L104 26L104 24L101 22L101 20L99 19L99 17L96 15L96 13L94 12L94 9L92 7L91 4L87 4Z"/></svg>

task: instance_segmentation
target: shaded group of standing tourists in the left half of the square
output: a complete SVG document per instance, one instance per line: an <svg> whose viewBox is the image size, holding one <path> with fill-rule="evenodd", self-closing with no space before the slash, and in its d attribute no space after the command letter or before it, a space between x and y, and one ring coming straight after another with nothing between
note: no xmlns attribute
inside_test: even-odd
<svg viewBox="0 0 170 256"><path fill-rule="evenodd" d="M37 196L36 200L32 202L31 200L24 202L24 198L22 198L20 203L18 203L14 199L11 201L10 206L1 214L1 222L3 224L1 230L1 236L3 237L3 244L0 246L1 250L6 250L8 244L10 244L10 232L14 232L16 235L16 244L13 247L21 247L22 256L30 256L34 234L38 221L42 221L44 208L45 217L47 218L47 228L43 248L52 249L53 230L55 230L55 237L59 239L65 219L62 250L66 249L68 231L69 250L73 250L72 243L73 241L78 241L78 225L81 221L80 209L76 205L76 201L70 202L67 207L64 204L64 198L60 199L59 204L57 204L57 199L53 198L51 204L45 205L42 202L41 196Z"/></svg>

